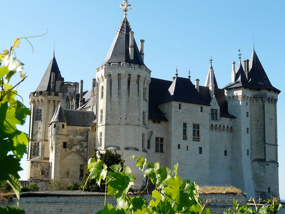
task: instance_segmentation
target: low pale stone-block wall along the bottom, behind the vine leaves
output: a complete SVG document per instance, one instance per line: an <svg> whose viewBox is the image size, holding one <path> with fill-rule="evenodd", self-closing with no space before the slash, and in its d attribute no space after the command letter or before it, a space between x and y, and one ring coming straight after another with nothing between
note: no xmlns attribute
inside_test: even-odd
<svg viewBox="0 0 285 214"><path fill-rule="evenodd" d="M24 196L24 195L23 195ZM152 197L144 196L147 201L150 201ZM207 206L213 213L223 213L232 206L233 200L243 201L241 204L245 204L245 195L200 195L201 199L205 202L207 199L212 199ZM104 195L78 195L78 196L51 196L51 197L21 197L19 202L19 208L24 209L29 214L90 214L96 213L104 207ZM114 196L107 196L107 202L116 204ZM9 203L0 202L0 206L4 207L16 206L17 199L13 198L13 201Z"/></svg>

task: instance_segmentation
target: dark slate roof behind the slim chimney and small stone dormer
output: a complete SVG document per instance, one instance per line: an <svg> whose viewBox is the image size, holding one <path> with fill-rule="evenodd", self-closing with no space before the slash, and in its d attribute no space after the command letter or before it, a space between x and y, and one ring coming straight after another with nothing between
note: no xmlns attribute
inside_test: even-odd
<svg viewBox="0 0 285 214"><path fill-rule="evenodd" d="M210 105L212 98L210 96L209 87L199 86L199 93L201 94L203 99L205 99L205 101L207 101L208 104ZM215 88L214 95L220 106L220 115L222 117L227 117L227 118L236 118L235 116L233 116L228 112L228 103L227 100L225 99L225 90L220 88Z"/></svg>

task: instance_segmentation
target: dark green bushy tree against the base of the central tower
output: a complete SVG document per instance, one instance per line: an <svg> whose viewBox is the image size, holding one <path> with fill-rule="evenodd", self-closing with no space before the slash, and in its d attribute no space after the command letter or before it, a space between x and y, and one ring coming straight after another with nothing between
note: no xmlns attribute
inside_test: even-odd
<svg viewBox="0 0 285 214"><path fill-rule="evenodd" d="M121 160L121 155L116 152L111 152L110 150L105 150L104 153L98 151L97 149L93 148L93 154L91 156L92 160L95 162L100 159L102 163L104 163L107 167L107 170L111 170L111 166L114 164L119 164ZM123 162L121 163L123 165ZM81 190L90 191L90 192L105 192L105 182L102 181L100 185L97 183L96 179L92 179L89 177L90 171L88 169L88 165L84 166L84 177L82 180ZM88 179L89 177L89 179ZM87 183L86 183L87 181Z"/></svg>

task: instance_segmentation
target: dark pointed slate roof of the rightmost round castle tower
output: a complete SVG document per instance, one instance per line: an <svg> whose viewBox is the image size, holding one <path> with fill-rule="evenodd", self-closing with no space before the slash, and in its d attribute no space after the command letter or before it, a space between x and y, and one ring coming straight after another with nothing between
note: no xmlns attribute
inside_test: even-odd
<svg viewBox="0 0 285 214"><path fill-rule="evenodd" d="M254 49L249 60L249 82L253 88L267 88L281 92L270 83Z"/></svg>

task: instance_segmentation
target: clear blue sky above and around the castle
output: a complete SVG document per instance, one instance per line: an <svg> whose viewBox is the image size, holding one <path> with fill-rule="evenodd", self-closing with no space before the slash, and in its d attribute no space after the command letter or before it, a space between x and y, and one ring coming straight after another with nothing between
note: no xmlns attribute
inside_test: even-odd
<svg viewBox="0 0 285 214"><path fill-rule="evenodd" d="M103 62L123 19L116 1L1 1L0 47L8 49L16 37L31 38L34 47L21 40L17 57L25 64L28 78L18 92L29 106L29 93L38 86L54 49L65 81L84 80L91 87L95 68ZM255 51L278 97L279 181L285 177L284 120L284 1L168 1L130 0L127 18L137 43L144 39L144 62L152 77L171 80L178 75L205 81L210 55L219 88L231 80L231 62ZM6 15L5 15L6 14ZM138 44L139 45L139 44ZM16 81L16 80L15 80ZM28 121L28 120L27 120ZM21 127L28 132L28 123ZM26 157L24 157L26 159ZM25 160L22 161L25 169ZM25 178L25 172L20 172ZM191 178L190 178L191 179ZM285 199L285 187L280 185Z"/></svg>

